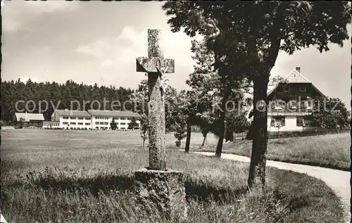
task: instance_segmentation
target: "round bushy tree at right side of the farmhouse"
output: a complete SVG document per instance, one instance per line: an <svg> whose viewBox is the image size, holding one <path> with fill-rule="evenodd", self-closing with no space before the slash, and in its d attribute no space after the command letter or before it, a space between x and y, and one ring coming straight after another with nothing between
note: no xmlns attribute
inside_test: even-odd
<svg viewBox="0 0 352 223"><path fill-rule="evenodd" d="M322 129L334 129L337 125L341 129L348 127L348 111L339 98L317 98L315 108L310 126Z"/></svg>

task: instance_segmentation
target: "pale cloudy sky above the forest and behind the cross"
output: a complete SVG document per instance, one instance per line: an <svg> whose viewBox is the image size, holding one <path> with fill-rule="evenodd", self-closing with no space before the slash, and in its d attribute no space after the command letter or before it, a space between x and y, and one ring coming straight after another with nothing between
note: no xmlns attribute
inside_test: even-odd
<svg viewBox="0 0 352 223"><path fill-rule="evenodd" d="M148 28L164 30L165 57L175 59L169 84L178 90L193 70L191 39L172 33L162 2L6 1L2 14L1 78L136 88L146 78L135 58L147 56ZM348 27L351 33L351 26ZM325 95L351 100L351 42L319 53L309 48L279 53L272 75L296 66Z"/></svg>

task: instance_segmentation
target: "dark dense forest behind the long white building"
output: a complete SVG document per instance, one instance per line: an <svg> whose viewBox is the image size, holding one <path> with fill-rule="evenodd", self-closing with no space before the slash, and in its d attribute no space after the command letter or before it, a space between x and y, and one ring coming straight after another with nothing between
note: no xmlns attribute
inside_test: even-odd
<svg viewBox="0 0 352 223"><path fill-rule="evenodd" d="M32 82L30 79L26 83L17 81L1 82L1 120L12 121L16 112L39 113L42 111L45 120L51 119L51 114L56 109L70 109L71 101L74 110L83 110L84 101L95 101L94 103L85 104L84 110L103 109L104 98L107 110L111 109L111 101L129 101L133 89L124 87L115 88L113 86L99 87L98 84L87 85L77 84L68 80L65 84L56 82ZM42 101L42 103L40 103ZM47 109L46 109L46 101ZM99 103L98 103L99 102ZM16 106L17 103L17 106ZM26 106L27 104L27 106ZM116 103L114 104L116 106ZM127 109L132 109L132 103L127 104ZM16 110L16 107L18 108ZM26 109L27 108L27 109ZM122 106L114 107L115 110L122 110Z"/></svg>

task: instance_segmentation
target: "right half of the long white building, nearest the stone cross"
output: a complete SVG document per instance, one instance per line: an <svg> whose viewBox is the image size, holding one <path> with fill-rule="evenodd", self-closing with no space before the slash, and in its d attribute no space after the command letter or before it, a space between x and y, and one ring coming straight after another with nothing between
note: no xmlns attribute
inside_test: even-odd
<svg viewBox="0 0 352 223"><path fill-rule="evenodd" d="M92 115L92 129L111 129L111 121L115 120L117 129L127 129L132 117L139 119L138 113L120 110L88 110ZM139 124L139 120L137 120Z"/></svg>

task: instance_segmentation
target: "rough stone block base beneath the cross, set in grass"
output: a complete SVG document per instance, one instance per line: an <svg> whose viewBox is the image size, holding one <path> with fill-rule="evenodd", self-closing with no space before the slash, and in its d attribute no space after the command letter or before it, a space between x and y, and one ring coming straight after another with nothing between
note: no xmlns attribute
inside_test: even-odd
<svg viewBox="0 0 352 223"><path fill-rule="evenodd" d="M134 193L141 211L148 216L185 219L187 201L183 174L175 170L137 170Z"/></svg>

